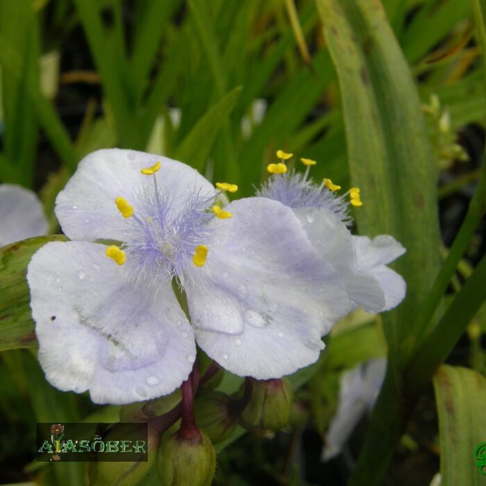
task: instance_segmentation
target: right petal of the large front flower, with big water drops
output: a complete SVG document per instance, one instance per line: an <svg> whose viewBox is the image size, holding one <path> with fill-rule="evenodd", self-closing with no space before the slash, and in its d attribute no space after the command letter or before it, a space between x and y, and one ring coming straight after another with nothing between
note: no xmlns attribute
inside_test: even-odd
<svg viewBox="0 0 486 486"><path fill-rule="evenodd" d="M225 209L233 217L212 221L206 264L186 278L196 340L240 376L291 374L317 360L320 336L349 312L346 285L287 206L249 198Z"/></svg>

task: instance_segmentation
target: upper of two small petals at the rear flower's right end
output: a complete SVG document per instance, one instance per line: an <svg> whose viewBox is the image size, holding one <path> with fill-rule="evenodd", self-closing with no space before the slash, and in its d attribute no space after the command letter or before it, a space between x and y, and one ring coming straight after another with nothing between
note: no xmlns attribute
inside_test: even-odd
<svg viewBox="0 0 486 486"><path fill-rule="evenodd" d="M396 260L405 248L389 235L378 235L373 240L367 236L353 236L358 270L369 270Z"/></svg>

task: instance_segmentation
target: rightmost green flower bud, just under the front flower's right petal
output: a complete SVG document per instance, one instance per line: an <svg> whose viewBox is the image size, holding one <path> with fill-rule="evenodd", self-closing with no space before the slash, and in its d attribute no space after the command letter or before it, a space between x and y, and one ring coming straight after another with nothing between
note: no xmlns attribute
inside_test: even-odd
<svg viewBox="0 0 486 486"><path fill-rule="evenodd" d="M253 380L249 404L242 413L242 425L265 436L289 421L292 387L287 379Z"/></svg>

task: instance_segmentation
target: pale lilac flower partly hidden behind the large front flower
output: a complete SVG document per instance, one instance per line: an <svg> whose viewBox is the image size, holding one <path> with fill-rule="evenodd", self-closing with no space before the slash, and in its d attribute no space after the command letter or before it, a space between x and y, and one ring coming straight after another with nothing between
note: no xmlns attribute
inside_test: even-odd
<svg viewBox="0 0 486 486"><path fill-rule="evenodd" d="M389 235L379 235L374 240L351 235L346 227L351 223L348 209L349 203L362 206L358 187L337 196L341 187L330 179L317 185L309 178L314 160L301 159L306 166L304 174L288 173L283 160L292 154L278 151L277 156L281 162L267 167L272 175L260 187L258 196L292 208L321 258L346 280L355 307L361 305L368 312L383 312L398 305L405 296L405 280L386 265L403 255L405 249Z"/></svg>

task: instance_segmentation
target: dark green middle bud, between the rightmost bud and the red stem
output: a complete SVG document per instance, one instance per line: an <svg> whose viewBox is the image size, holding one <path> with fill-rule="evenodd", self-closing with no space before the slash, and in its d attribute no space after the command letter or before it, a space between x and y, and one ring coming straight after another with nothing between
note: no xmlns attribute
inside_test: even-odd
<svg viewBox="0 0 486 486"><path fill-rule="evenodd" d="M228 439L235 430L233 408L234 402L222 392L210 392L194 402L196 423L206 432L213 444Z"/></svg>

